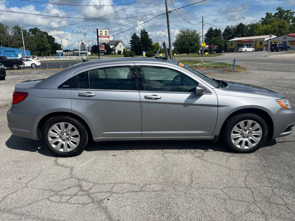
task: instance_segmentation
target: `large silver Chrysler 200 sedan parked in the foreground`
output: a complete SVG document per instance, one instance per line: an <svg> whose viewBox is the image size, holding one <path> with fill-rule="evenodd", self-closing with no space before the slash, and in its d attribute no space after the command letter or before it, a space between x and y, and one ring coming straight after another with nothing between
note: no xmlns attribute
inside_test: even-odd
<svg viewBox="0 0 295 221"><path fill-rule="evenodd" d="M211 79L173 60L123 57L18 83L7 121L12 134L42 139L59 156L81 153L89 139L220 137L232 151L249 153L291 134L295 111L266 88Z"/></svg>

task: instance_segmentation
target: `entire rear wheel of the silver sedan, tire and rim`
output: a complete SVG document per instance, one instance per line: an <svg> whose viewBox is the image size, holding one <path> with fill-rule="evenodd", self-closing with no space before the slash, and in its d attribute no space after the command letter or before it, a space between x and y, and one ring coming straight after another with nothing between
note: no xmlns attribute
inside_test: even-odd
<svg viewBox="0 0 295 221"><path fill-rule="evenodd" d="M55 155L68 157L80 154L88 141L83 124L69 116L49 119L42 129L42 141Z"/></svg>

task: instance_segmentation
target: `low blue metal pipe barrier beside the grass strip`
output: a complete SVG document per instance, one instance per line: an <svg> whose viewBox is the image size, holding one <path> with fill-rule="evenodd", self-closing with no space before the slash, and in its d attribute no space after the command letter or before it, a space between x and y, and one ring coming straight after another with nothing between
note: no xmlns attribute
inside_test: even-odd
<svg viewBox="0 0 295 221"><path fill-rule="evenodd" d="M191 60L185 60L186 65L187 65L188 61L191 62ZM196 61L200 62L199 60L196 60ZM181 62L181 60L179 62ZM181 63L184 63L184 62L181 62ZM215 65L215 64L217 64L217 65ZM195 60L193 60L193 64L192 65L187 65L187 66L198 67L200 69L200 72L219 71L219 70L226 70L226 69L235 70L236 59L234 58L232 60L225 60L225 61L212 61L212 62L210 61L210 62L207 62L207 63L200 63L200 64L195 64ZM209 68L210 69L210 66L211 66L211 70L203 70L202 66L203 66L203 69L204 68ZM217 68L217 69L213 69L213 68Z"/></svg>

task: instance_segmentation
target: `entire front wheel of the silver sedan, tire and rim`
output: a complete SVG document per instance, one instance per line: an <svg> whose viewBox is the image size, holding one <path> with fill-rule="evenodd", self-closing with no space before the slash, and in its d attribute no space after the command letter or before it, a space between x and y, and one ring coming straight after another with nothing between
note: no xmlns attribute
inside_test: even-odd
<svg viewBox="0 0 295 221"><path fill-rule="evenodd" d="M267 125L260 116L243 113L226 122L223 142L237 153L250 153L263 146L267 136Z"/></svg>

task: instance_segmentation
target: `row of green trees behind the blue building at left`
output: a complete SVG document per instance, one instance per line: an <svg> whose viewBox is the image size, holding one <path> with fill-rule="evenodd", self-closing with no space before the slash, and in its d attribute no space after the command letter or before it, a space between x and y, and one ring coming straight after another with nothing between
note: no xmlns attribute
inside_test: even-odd
<svg viewBox="0 0 295 221"><path fill-rule="evenodd" d="M56 54L56 50L62 50L61 44L54 42L54 37L37 27L29 30L22 29L22 32L25 48L31 51L31 55L50 56ZM10 29L8 25L0 22L0 45L13 48L23 47L22 32L19 25Z"/></svg>

